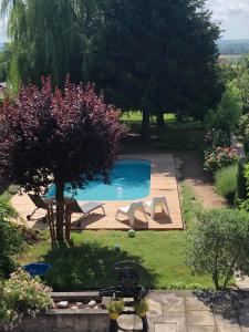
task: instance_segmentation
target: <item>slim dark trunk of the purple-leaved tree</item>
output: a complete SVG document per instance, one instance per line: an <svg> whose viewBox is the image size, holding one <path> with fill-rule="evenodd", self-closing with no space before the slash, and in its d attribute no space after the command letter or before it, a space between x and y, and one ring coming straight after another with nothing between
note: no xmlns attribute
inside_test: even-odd
<svg viewBox="0 0 249 332"><path fill-rule="evenodd" d="M59 243L64 242L63 222L64 222L64 183L55 181L56 193L56 240Z"/></svg>

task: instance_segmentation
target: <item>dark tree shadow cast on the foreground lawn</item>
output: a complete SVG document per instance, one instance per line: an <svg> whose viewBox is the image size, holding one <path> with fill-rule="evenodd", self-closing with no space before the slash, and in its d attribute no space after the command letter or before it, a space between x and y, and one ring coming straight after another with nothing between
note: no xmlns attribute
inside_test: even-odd
<svg viewBox="0 0 249 332"><path fill-rule="evenodd" d="M115 248L101 247L85 242L71 248L53 249L44 256L52 269L44 277L45 283L53 291L98 290L113 286L114 276L111 267L123 260L134 260L143 264L141 257ZM151 284L155 284L156 273L147 270ZM145 280L144 280L145 281ZM143 284L143 280L139 281Z"/></svg>

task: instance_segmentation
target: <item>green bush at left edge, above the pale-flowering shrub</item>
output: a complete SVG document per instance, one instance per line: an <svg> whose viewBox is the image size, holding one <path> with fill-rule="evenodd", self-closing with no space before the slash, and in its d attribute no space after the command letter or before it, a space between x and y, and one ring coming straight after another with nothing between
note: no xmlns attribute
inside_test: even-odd
<svg viewBox="0 0 249 332"><path fill-rule="evenodd" d="M0 278L7 278L14 267L13 255L22 250L22 236L9 221L17 214L9 203L0 201Z"/></svg>

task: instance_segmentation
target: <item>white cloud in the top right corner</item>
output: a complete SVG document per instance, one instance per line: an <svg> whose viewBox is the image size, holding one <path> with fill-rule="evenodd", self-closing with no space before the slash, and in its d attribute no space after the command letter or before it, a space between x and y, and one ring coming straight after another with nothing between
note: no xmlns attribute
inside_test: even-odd
<svg viewBox="0 0 249 332"><path fill-rule="evenodd" d="M249 0L208 0L207 8L212 11L215 21L227 21L238 15L249 20Z"/></svg>

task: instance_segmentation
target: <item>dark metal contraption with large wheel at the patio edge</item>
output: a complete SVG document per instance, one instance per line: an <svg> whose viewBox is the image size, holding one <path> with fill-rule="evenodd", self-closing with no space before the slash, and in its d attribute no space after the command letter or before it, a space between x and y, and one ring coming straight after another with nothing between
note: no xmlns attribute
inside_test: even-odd
<svg viewBox="0 0 249 332"><path fill-rule="evenodd" d="M121 261L114 264L111 270L115 277L115 286L101 289L101 297L110 297L112 300L129 298L131 301L125 301L125 307L134 307L142 300L151 289L151 282L147 271L135 261ZM143 283L143 284L142 284ZM123 311L121 314L135 314L134 310ZM143 332L148 331L146 317L141 318L143 323ZM110 332L118 330L117 322L111 320Z"/></svg>

